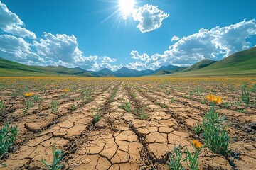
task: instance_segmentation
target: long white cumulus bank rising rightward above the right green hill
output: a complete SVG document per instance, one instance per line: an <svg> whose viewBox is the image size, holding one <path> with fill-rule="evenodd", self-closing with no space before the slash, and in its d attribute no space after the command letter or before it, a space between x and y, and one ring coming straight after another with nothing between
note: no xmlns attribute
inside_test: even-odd
<svg viewBox="0 0 256 170"><path fill-rule="evenodd" d="M133 59L144 62L132 62L130 64L133 68L139 68L143 65L145 68L157 69L168 64L188 66L206 58L221 60L234 52L248 49L250 42L247 42L247 38L253 35L256 35L254 19L244 20L222 28L219 26L210 30L202 28L198 33L181 38L163 54L151 55L146 60L144 57L139 57L141 56L139 52L132 51ZM146 56L146 54L143 55Z"/></svg>

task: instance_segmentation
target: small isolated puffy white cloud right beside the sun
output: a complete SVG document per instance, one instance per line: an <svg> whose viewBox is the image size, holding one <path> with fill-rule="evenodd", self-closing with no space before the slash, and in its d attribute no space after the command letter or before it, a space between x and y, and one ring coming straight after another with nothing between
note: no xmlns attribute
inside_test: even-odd
<svg viewBox="0 0 256 170"><path fill-rule="evenodd" d="M134 21L139 21L137 28L139 28L142 33L160 28L162 21L168 17L169 14L159 10L158 6L149 4L137 8L132 13Z"/></svg>

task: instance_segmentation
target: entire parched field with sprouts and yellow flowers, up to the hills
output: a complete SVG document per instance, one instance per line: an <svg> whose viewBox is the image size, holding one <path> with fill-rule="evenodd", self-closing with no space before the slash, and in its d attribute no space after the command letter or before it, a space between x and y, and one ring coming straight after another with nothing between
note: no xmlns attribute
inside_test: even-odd
<svg viewBox="0 0 256 170"><path fill-rule="evenodd" d="M226 116L231 151L203 147L200 167L256 169L256 78L6 77L0 89L0 127L18 128L0 169L46 169L54 142L65 152L63 169L169 169L175 145L205 145L194 125L210 110L209 94L222 98L217 112Z"/></svg>

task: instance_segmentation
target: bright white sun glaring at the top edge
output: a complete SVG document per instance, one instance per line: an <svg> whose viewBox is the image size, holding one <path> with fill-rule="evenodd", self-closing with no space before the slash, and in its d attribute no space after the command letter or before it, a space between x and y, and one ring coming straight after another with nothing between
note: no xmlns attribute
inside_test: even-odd
<svg viewBox="0 0 256 170"><path fill-rule="evenodd" d="M124 19L132 13L134 10L134 0L119 0L119 9L122 12L122 16Z"/></svg>

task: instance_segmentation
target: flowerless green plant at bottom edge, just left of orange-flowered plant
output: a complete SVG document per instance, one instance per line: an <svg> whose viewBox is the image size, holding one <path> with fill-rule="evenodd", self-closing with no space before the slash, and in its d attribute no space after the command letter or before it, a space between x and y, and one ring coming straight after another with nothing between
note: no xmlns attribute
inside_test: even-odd
<svg viewBox="0 0 256 170"><path fill-rule="evenodd" d="M182 159L183 152L181 152L181 145L178 145L178 148L174 146L174 152L170 155L169 158L169 169L171 170L183 170Z"/></svg>

